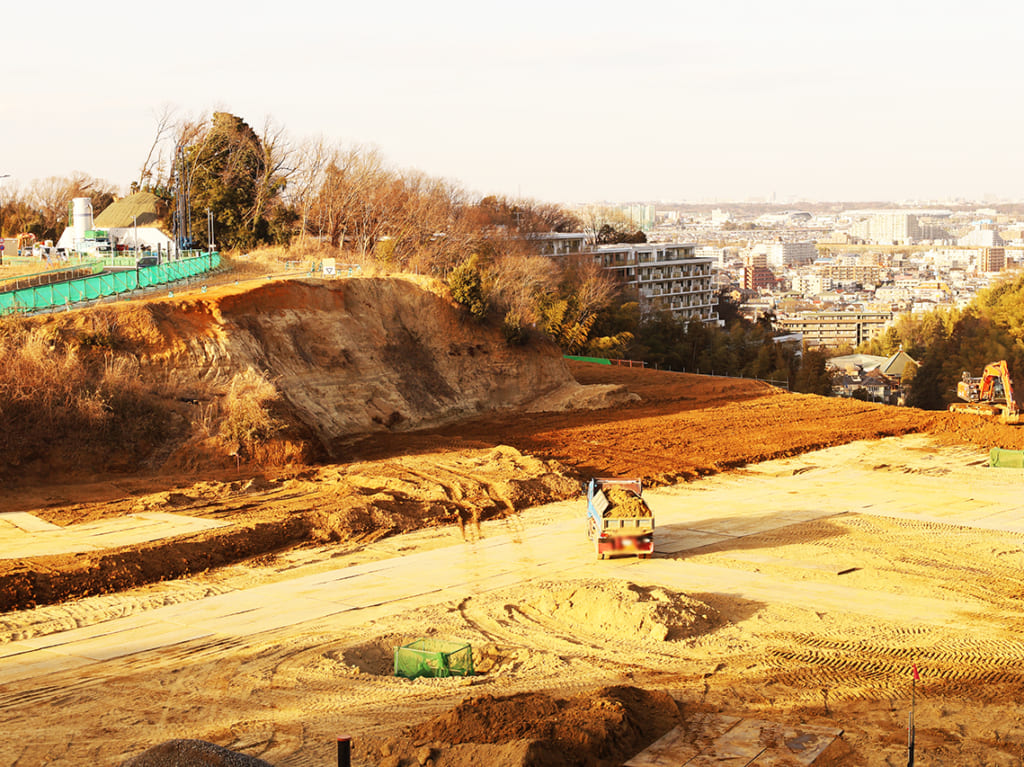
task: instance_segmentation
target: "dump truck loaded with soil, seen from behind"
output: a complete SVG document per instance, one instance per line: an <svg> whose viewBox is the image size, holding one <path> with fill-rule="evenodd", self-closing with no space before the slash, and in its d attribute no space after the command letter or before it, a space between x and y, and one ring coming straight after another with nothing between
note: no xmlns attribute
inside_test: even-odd
<svg viewBox="0 0 1024 767"><path fill-rule="evenodd" d="M587 485L587 538L598 559L611 554L654 553L654 515L639 479L593 478Z"/></svg>

